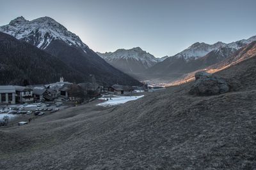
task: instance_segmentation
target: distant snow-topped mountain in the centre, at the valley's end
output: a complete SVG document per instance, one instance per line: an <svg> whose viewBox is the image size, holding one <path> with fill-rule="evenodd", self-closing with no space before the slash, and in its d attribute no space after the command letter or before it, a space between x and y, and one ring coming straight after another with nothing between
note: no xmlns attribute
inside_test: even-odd
<svg viewBox="0 0 256 170"><path fill-rule="evenodd" d="M127 74L142 73L158 62L154 55L141 50L140 47L129 50L118 49L115 52L97 52L97 54L109 64Z"/></svg>

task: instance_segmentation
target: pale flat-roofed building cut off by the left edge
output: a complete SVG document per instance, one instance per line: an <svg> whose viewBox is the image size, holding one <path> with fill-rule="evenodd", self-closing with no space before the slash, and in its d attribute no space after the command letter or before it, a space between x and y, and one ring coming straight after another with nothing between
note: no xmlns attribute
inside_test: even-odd
<svg viewBox="0 0 256 170"><path fill-rule="evenodd" d="M0 104L15 104L15 87L0 85Z"/></svg>

